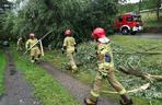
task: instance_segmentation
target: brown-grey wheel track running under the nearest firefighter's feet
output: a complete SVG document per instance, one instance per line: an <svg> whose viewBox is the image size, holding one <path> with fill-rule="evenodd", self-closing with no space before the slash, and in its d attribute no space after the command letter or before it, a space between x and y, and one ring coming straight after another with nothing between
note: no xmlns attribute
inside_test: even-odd
<svg viewBox="0 0 162 105"><path fill-rule="evenodd" d="M88 95L90 92L90 86L85 85L84 83L81 83L80 81L73 79L69 74L65 73L61 70L57 70L51 63L43 61L39 63L39 66L47 70L48 73L50 73L55 80L57 80L63 88L66 88L81 103L81 105L84 105L83 98ZM107 101L105 98L100 98L97 105L119 105L115 104L111 101Z"/></svg>

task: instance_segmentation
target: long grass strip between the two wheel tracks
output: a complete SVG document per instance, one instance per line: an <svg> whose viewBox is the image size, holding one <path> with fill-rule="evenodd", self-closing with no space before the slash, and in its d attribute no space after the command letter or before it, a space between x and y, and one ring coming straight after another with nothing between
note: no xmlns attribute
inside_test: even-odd
<svg viewBox="0 0 162 105"><path fill-rule="evenodd" d="M16 68L24 71L26 80L34 86L34 94L43 105L79 105L70 93L45 70L32 65L24 56L14 52Z"/></svg>

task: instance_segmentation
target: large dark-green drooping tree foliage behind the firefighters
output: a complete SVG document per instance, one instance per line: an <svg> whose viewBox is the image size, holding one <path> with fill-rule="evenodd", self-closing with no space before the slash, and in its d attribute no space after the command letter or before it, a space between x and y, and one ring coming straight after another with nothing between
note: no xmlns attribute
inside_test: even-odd
<svg viewBox="0 0 162 105"><path fill-rule="evenodd" d="M15 5L24 0L18 0ZM28 0L16 12L5 13L3 32L11 36L27 36L34 32L42 37L50 28L48 40L59 45L66 28L71 28L78 40L91 37L96 26L113 32L117 0ZM18 4L19 3L19 4Z"/></svg>

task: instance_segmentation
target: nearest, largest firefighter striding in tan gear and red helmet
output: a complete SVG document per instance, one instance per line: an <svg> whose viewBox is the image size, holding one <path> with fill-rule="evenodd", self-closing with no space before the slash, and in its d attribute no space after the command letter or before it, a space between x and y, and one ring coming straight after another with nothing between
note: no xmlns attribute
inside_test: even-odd
<svg viewBox="0 0 162 105"><path fill-rule="evenodd" d="M102 86L102 80L107 79L109 84L121 96L121 105L132 105L131 98L126 94L126 90L117 81L114 75L113 54L111 50L111 40L105 36L104 28L96 27L92 33L93 38L96 40L96 55L97 55L97 73L95 75L93 89L91 89L90 96L84 98L86 105L96 105Z"/></svg>

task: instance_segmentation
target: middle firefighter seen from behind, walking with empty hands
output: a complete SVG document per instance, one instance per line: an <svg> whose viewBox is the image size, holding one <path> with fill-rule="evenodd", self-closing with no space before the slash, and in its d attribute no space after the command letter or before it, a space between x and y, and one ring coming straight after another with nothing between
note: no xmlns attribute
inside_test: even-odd
<svg viewBox="0 0 162 105"><path fill-rule="evenodd" d="M69 60L68 69L72 69L72 72L77 72L78 68L73 59L73 54L77 52L76 39L72 37L70 30L66 30L65 35L66 37L63 39L62 52L66 50L67 58Z"/></svg>

